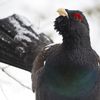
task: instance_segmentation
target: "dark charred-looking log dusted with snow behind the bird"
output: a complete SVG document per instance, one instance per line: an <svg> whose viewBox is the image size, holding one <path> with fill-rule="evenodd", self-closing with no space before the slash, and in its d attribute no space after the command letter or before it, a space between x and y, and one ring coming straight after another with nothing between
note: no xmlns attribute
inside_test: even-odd
<svg viewBox="0 0 100 100"><path fill-rule="evenodd" d="M12 15L0 20L0 61L31 71L38 52L52 40L37 34L24 17Z"/></svg>

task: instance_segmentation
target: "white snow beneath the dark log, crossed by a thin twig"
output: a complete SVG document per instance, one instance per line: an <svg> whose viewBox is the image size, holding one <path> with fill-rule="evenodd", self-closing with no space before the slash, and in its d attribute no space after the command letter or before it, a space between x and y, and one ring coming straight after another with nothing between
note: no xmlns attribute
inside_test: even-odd
<svg viewBox="0 0 100 100"><path fill-rule="evenodd" d="M34 100L31 73L0 63L0 100Z"/></svg>

